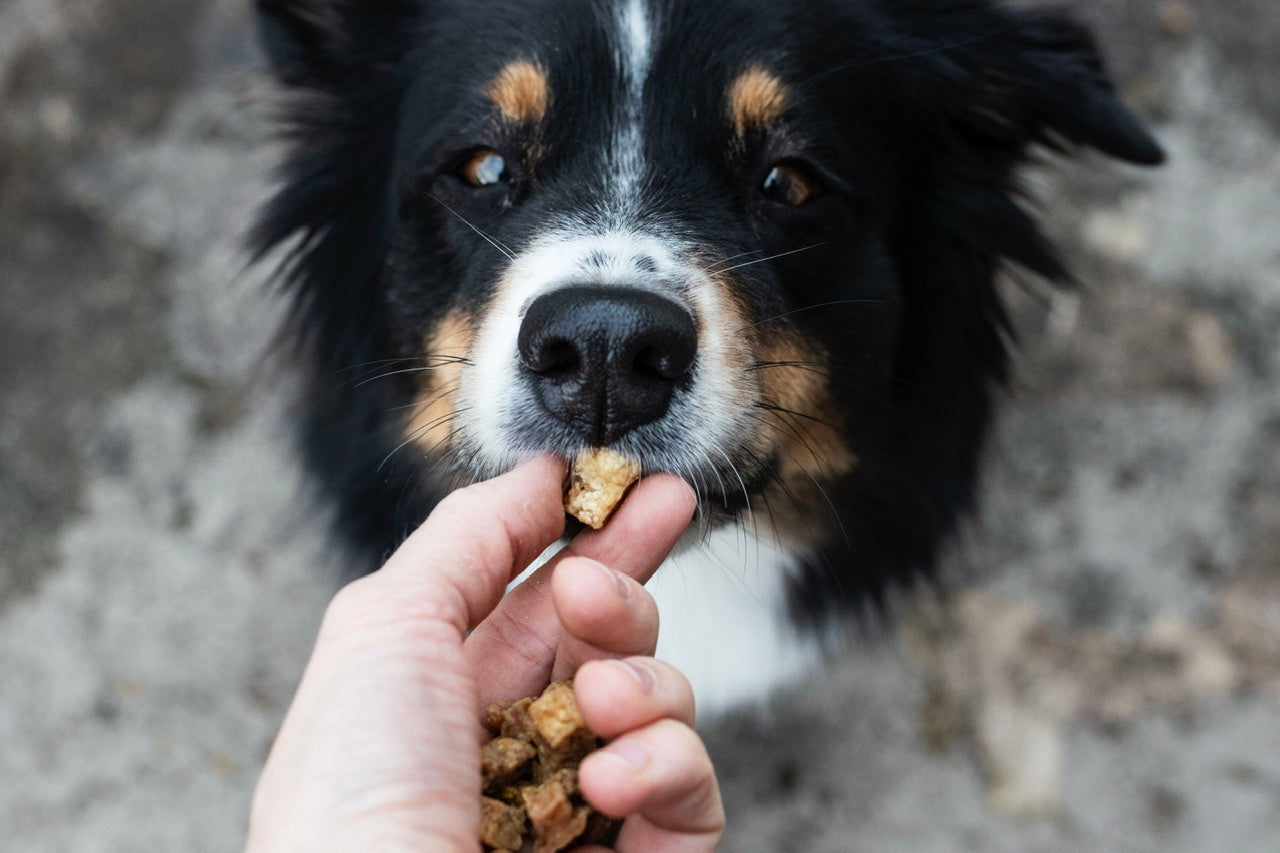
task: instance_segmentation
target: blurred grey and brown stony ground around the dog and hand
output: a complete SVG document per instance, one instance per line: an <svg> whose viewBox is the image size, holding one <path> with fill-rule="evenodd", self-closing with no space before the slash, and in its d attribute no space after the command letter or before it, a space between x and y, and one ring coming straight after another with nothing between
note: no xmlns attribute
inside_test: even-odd
<svg viewBox="0 0 1280 853"><path fill-rule="evenodd" d="M726 850L1274 850L1280 4L1076 0L1171 160L1030 179L1080 296L946 597L710 725ZM233 850L332 593L241 236L247 0L0 0L0 847Z"/></svg>

